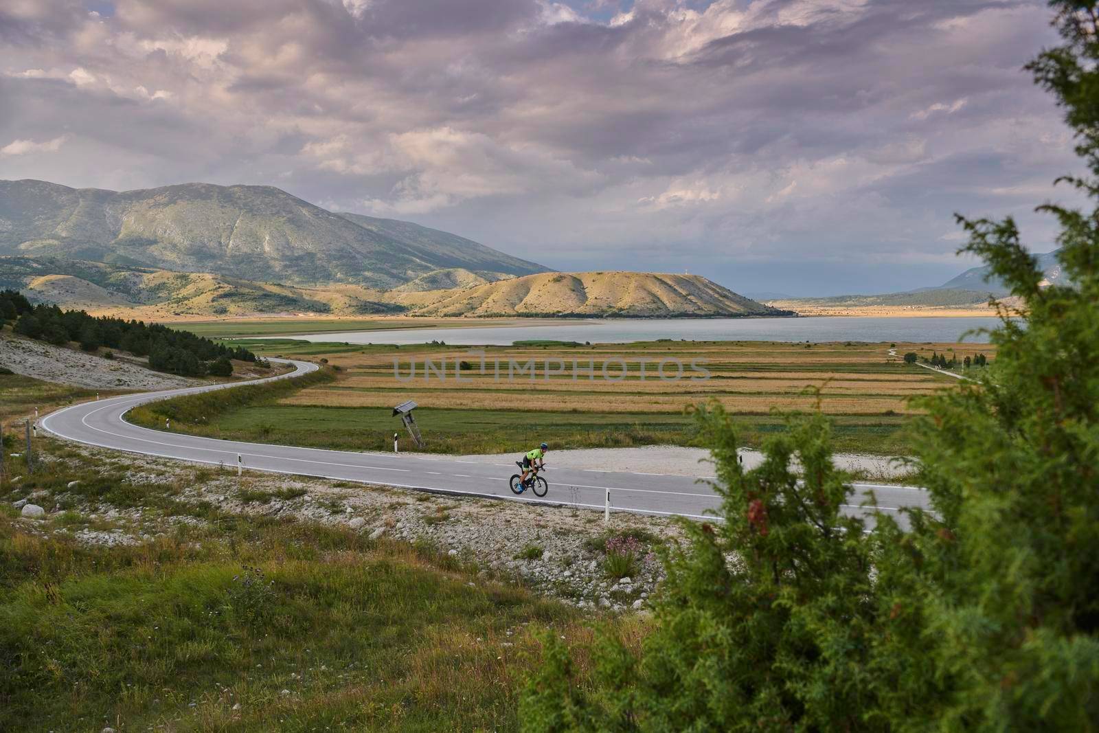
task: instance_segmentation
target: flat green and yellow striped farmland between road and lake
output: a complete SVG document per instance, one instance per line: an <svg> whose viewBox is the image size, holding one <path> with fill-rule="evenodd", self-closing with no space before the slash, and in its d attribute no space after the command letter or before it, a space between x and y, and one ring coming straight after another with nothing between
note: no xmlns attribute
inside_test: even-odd
<svg viewBox="0 0 1099 733"><path fill-rule="evenodd" d="M959 358L978 352L995 356L989 346L972 344L534 343L485 347L482 366L479 354L445 345L243 343L268 355L323 359L331 379L256 392L246 403L153 404L135 419L156 427L170 417L174 429L235 440L389 449L395 431L404 438L390 409L412 399L420 404L417 420L428 451L496 453L542 440L560 448L698 445L685 408L709 400L736 415L752 445L781 429L776 410L819 403L832 417L836 449L902 454L906 426L918 412L911 398L953 388L955 380L906 365L901 355L954 349ZM898 356L889 355L892 347ZM665 358L684 363L682 379L659 378L658 359ZM425 369L428 359L433 369ZM590 367L593 378L582 373L574 378L574 360L579 369ZM517 367L509 378L511 362ZM709 378L692 371L692 362ZM604 366L611 379L603 378ZM519 374L520 368L530 370ZM666 365L665 376L675 374Z"/></svg>

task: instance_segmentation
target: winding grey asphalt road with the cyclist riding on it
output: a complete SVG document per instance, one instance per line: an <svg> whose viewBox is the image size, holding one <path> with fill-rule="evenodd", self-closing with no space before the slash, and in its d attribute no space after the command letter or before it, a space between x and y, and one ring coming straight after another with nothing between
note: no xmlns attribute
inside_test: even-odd
<svg viewBox="0 0 1099 733"><path fill-rule="evenodd" d="M546 480L550 481L550 492L545 499L537 499L530 496L530 492L518 497L511 492L508 479L517 469L511 464L471 463L422 454L349 453L264 443L237 443L149 430L124 420L129 410L145 402L229 389L257 381L287 379L315 371L318 368L308 362L271 360L291 364L295 370L248 382L124 395L84 402L53 412L43 418L40 424L58 437L116 451L224 465L229 468L235 466L240 457L244 468L248 470L318 476L439 493L600 510L604 508L609 496L612 511L696 519L708 518L708 511L717 509L720 504L718 496L704 480L707 477L555 469L551 457L545 473ZM901 507L929 508L926 492L918 487L873 484L853 486L856 491L845 511L854 514L872 514L875 510L897 513ZM903 514L898 519L907 523Z"/></svg>

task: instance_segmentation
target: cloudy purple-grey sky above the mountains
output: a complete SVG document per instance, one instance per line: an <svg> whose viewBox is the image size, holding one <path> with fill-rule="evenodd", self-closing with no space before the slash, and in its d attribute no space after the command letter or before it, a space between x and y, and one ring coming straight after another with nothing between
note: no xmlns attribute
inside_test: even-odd
<svg viewBox="0 0 1099 733"><path fill-rule="evenodd" d="M268 184L557 269L939 284L1077 170L1041 0L3 0L0 178Z"/></svg>

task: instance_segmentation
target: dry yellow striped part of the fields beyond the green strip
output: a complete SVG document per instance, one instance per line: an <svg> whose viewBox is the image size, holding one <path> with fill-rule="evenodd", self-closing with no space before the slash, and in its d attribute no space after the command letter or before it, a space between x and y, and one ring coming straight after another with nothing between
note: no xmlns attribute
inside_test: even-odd
<svg viewBox="0 0 1099 733"><path fill-rule="evenodd" d="M958 358L991 351L970 344L899 344L897 355L890 355L886 344L656 342L488 347L482 365L480 354L463 347L364 349L330 355L330 363L340 367L337 380L281 403L378 408L403 398L439 409L667 413L712 399L733 412L758 414L775 408L811 409L820 390L828 413L906 414L915 411L909 398L950 387L954 380L906 365L901 355L952 348ZM682 377L673 378L679 370L668 362L662 379L660 359L677 359ZM469 368L460 369L462 362Z"/></svg>

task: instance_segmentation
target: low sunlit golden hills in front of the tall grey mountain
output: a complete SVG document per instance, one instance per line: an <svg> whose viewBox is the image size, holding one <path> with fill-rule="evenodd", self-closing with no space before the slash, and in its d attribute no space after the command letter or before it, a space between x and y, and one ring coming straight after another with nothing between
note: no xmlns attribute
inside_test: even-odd
<svg viewBox="0 0 1099 733"><path fill-rule="evenodd" d="M459 287L452 286L464 282ZM436 287L431 287L436 286ZM0 288L37 302L144 320L248 315L636 316L787 315L706 278L654 273L546 273L486 282L436 270L392 290L256 282L62 257L0 257Z"/></svg>

